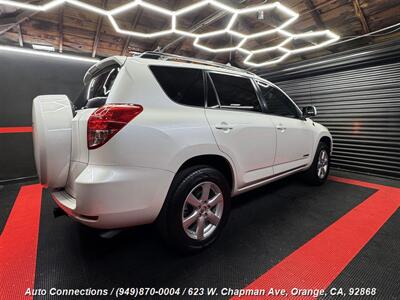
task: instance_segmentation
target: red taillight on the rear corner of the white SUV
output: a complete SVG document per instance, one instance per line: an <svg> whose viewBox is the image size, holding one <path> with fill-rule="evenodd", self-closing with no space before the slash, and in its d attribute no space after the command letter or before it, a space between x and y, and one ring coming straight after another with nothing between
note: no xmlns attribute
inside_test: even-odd
<svg viewBox="0 0 400 300"><path fill-rule="evenodd" d="M88 148L96 149L107 143L142 111L143 107L136 104L107 104L98 108L88 121Z"/></svg>

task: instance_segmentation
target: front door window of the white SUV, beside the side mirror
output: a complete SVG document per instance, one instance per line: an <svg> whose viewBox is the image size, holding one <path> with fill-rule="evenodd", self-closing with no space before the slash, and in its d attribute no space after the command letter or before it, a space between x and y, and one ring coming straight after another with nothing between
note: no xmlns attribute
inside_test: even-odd
<svg viewBox="0 0 400 300"><path fill-rule="evenodd" d="M261 94L266 102L267 113L296 118L298 116L298 110L295 105L277 88L259 82Z"/></svg>

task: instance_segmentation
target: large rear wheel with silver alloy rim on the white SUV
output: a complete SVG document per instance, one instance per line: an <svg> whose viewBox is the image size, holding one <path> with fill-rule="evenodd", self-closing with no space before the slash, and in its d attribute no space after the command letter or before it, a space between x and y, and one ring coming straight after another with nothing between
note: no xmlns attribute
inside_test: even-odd
<svg viewBox="0 0 400 300"><path fill-rule="evenodd" d="M202 199L208 187L209 195ZM228 221L230 193L226 178L212 167L195 166L179 172L156 222L163 239L182 253L194 253L210 246ZM208 207L206 198L214 199Z"/></svg>

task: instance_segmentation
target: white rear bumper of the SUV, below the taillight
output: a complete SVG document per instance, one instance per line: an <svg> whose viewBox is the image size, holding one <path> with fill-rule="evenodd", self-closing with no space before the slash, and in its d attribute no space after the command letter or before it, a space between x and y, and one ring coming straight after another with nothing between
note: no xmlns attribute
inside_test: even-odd
<svg viewBox="0 0 400 300"><path fill-rule="evenodd" d="M87 226L130 227L157 218L173 177L174 173L158 169L88 165L73 184L52 197L70 217Z"/></svg>

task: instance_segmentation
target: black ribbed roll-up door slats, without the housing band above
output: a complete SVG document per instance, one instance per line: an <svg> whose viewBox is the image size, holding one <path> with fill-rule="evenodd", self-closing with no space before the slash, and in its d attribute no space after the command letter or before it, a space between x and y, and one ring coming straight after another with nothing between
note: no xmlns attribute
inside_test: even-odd
<svg viewBox="0 0 400 300"><path fill-rule="evenodd" d="M400 178L400 63L276 82L334 139L332 166Z"/></svg>

